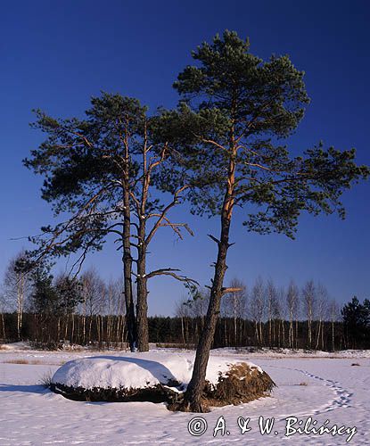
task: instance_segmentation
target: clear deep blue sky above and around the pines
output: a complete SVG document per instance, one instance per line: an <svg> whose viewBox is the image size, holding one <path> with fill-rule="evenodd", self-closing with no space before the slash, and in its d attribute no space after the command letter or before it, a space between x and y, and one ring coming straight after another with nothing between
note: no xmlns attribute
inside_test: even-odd
<svg viewBox="0 0 370 446"><path fill-rule="evenodd" d="M29 128L31 109L78 115L100 90L140 98L155 109L175 105L171 89L191 62L190 51L217 32L249 36L251 52L267 58L290 54L306 71L312 103L290 145L302 150L326 145L358 149L370 163L368 126L370 3L364 1L14 1L0 12L0 274L25 244L12 237L36 234L51 222L39 197L40 178L21 160L41 141ZM345 195L348 218L303 217L295 241L284 235L251 235L237 212L228 277L248 285L259 274L278 285L294 277L321 280L338 301L370 296L368 222L370 185ZM208 284L218 220L187 219L195 237L176 242L163 231L152 244L150 267L178 267ZM107 249L93 259L103 277L118 277L119 257ZM150 312L171 314L185 290L170 278L152 279Z"/></svg>

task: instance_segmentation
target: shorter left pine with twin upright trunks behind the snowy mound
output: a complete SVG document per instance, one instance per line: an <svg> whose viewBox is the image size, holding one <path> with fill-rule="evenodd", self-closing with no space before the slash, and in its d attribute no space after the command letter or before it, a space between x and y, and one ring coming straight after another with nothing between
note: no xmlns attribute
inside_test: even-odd
<svg viewBox="0 0 370 446"><path fill-rule="evenodd" d="M26 167L45 178L42 198L52 204L55 215L67 215L67 219L43 227L43 234L32 238L39 245L32 253L35 262L46 255L76 253L78 272L88 252L101 250L108 236L115 237L122 252L131 351L136 345L140 351L149 349L148 279L167 275L185 283L190 280L179 276L174 268L146 271L148 246L160 227L170 227L180 238L182 228L192 234L187 225L174 223L168 216L181 202L186 186L177 186L167 205L152 197L152 175L170 150L166 141L157 138L153 142L156 126L156 118L148 117L146 107L138 100L103 93L92 98L84 120L56 120L37 111L34 127L47 138L24 161ZM133 275L137 282L136 309Z"/></svg>

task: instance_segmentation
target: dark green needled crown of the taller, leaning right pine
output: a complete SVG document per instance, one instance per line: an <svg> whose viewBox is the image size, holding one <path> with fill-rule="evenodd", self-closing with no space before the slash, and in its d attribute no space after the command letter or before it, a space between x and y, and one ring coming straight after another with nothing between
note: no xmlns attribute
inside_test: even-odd
<svg viewBox="0 0 370 446"><path fill-rule="evenodd" d="M186 67L174 84L182 102L177 111L162 113L162 137L177 145L177 174L193 186L193 212L221 212L232 161L232 199L245 209L248 230L293 237L302 211L337 211L343 218L341 194L367 178L368 167L356 164L354 149L320 143L292 156L295 148L279 144L309 102L304 73L288 56L264 62L249 46L230 31L199 46L193 52L198 64ZM168 173L162 170L163 181Z"/></svg>

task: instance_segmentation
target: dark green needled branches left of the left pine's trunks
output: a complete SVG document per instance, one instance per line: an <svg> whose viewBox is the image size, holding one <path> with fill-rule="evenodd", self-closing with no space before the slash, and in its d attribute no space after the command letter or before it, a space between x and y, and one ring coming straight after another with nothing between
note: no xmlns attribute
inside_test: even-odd
<svg viewBox="0 0 370 446"><path fill-rule="evenodd" d="M121 235L122 176L136 186L145 107L136 99L108 95L91 100L86 119L55 120L36 111L34 128L47 137L24 164L45 178L42 197L56 216L72 219L43 227L32 238L41 251L65 255L100 250L108 234ZM132 153L128 155L128 145Z"/></svg>

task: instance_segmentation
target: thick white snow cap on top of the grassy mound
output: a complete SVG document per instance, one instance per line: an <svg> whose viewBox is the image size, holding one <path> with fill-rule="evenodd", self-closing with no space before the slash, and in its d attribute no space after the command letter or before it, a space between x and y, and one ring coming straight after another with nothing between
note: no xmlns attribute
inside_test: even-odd
<svg viewBox="0 0 370 446"><path fill-rule="evenodd" d="M206 379L217 384L218 377L227 372L232 364L241 362L236 359L210 358ZM243 361L245 362L245 361ZM247 363L251 369L261 368ZM181 390L192 377L193 353L125 353L115 356L96 356L75 359L67 362L53 376L53 383L70 387L93 387L138 389L156 384L169 384L177 381ZM172 387L173 388L173 387ZM173 388L176 390L176 388Z"/></svg>

